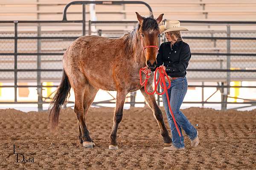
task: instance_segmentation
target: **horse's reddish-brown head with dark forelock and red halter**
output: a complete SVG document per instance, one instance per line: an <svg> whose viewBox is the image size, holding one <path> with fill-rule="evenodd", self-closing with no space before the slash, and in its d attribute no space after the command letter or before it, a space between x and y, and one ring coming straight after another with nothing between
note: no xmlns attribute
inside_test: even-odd
<svg viewBox="0 0 256 170"><path fill-rule="evenodd" d="M140 22L138 34L145 54L146 65L149 69L154 69L157 65L158 37L160 36L159 23L163 19L163 14L160 14L157 19L154 19L153 15L145 18L137 12L136 14Z"/></svg>

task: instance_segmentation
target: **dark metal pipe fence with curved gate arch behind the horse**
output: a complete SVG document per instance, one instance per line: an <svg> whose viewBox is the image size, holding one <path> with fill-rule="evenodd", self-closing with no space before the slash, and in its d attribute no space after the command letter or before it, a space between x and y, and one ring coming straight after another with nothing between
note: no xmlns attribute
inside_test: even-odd
<svg viewBox="0 0 256 170"><path fill-rule="evenodd" d="M36 20L36 21L0 21L0 23L6 23L6 24L14 24L14 37L0 37L0 40L14 40L14 52L9 53L9 52L3 52L0 53L1 56L14 56L14 69L0 69L0 72L13 72L14 73L14 86L0 86L0 87L14 87L15 89L15 99L13 102L2 102L0 101L0 104L38 104L38 110L42 109L42 104L46 104L49 103L47 101L44 101L43 99L46 99L42 96L42 88L43 87L57 87L57 86L43 86L41 81L41 73L42 72L61 72L62 69L41 69L41 57L42 56L56 56L56 55L63 55L63 52L42 52L41 50L41 40L56 40L56 39L60 39L60 40L75 40L77 37L50 37L50 36L41 36L41 29L40 29L40 24L43 23L82 23L82 35L86 35L86 20L85 20L85 4L90 4L90 3L95 3L95 4L144 4L145 6L148 7L149 11L152 11L150 6L147 3L144 2L140 2L140 1L75 1L72 3L67 4L67 6L64 9L64 15L63 15L63 20ZM67 12L67 8L70 5L73 4L81 4L83 6L83 19L82 20L67 20L66 17L66 12ZM231 62L231 58L236 57L236 56L240 56L240 57L246 57L246 56L250 56L253 57L253 60L256 61L256 53L232 53L230 50L230 41L231 40L256 40L256 37L231 37L230 35L230 25L242 25L242 24L251 24L253 26L256 26L256 22L253 21L187 21L187 20L183 20L181 21L182 23L187 23L187 24L205 24L205 25L209 25L209 24L221 24L224 26L227 26L227 36L226 37L198 37L198 36L186 36L183 37L183 39L186 40L226 40L226 52L221 52L221 53L213 53L213 52L192 52L193 56L198 56L198 61L201 62L201 58L200 57L204 57L205 56L223 56L223 58L220 58L218 60L218 62L222 62L225 61L226 66L224 67L225 69L221 69L221 68L213 68L213 69L198 69L198 68L191 68L189 67L189 69L187 69L188 72L215 72L215 73L221 73L221 75L223 75L223 77L220 79L219 77L216 79L216 82L221 82L221 84L216 85L216 86L207 86L207 85L189 85L189 87L202 87L202 89L204 89L205 87L216 87L217 90L219 89L221 91L221 102L208 102L207 100L209 98L207 98L206 100L204 100L204 98L202 97L202 101L198 101L198 102L183 102L183 103L189 103L189 104L221 104L221 108L222 109L227 109L227 104L234 104L233 102L227 102L227 98L230 97L228 96L229 94L229 90L232 87L237 87L237 88L256 88L256 86L230 86L230 81L234 80L230 73L232 72L256 72L256 69L232 69L230 66L230 62ZM29 24L35 24L35 26L38 26L38 32L37 32L37 36L34 37L20 37L18 36L18 25L22 24L22 23L29 23ZM137 23L137 21L89 21L88 22L88 34L91 34L91 26L95 25L95 24L100 24L100 23L108 23L108 24L116 24L116 23L120 23L120 24L127 24L127 23ZM99 35L103 34L104 30L99 30ZM17 46L18 46L18 40L37 40L37 52L18 52L17 51ZM163 41L163 37L162 39L160 39L161 41ZM214 47L213 50L215 49L220 49L220 48L216 48ZM17 68L17 57L18 56L37 56L37 68L36 69L18 69ZM241 60L242 61L242 60ZM239 61L239 62L241 62ZM192 61L193 62L193 61ZM195 62L195 61L194 61ZM209 61L208 61L209 62ZM21 86L17 84L17 73L18 72L36 72L36 80L37 80L37 85L35 86ZM225 73L225 74L223 74ZM213 78L210 77L209 80L212 80ZM193 80L193 79L191 79ZM199 80L199 79L197 79ZM242 78L237 78L237 80L242 80ZM256 77L254 75L247 78L247 80L256 80ZM200 80L199 80L200 81ZM201 80L202 81L202 80ZM206 79L204 79L204 81L207 81ZM26 102L22 102L22 101L17 101L17 88L22 88L22 87L36 87L37 91L38 91L38 101L37 102L30 102L30 101L26 101ZM203 91L202 91L202 95ZM211 96L210 96L211 97ZM256 101L251 100L251 99L244 99L244 101L246 102L237 102L236 104L250 104L251 106L255 106L256 105ZM157 96L157 102L158 104L160 104L160 96ZM69 102L69 103L73 103L73 102ZM109 104L109 103L113 103L111 101L100 101L100 102L94 102L93 104ZM134 106L134 104L139 104L139 103L143 103L144 102L135 102L135 100L131 100L131 102L127 102L130 103L131 105ZM240 107L241 108L241 107Z"/></svg>

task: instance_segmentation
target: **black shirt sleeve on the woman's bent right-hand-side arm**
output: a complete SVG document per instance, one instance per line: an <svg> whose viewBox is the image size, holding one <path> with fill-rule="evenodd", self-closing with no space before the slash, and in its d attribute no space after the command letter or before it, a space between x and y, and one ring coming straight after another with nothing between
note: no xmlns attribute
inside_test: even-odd
<svg viewBox="0 0 256 170"><path fill-rule="evenodd" d="M189 60L191 58L191 52L189 45L186 44L182 47L180 52L180 62L178 64L172 64L170 67L167 67L167 72L184 72L189 65Z"/></svg>

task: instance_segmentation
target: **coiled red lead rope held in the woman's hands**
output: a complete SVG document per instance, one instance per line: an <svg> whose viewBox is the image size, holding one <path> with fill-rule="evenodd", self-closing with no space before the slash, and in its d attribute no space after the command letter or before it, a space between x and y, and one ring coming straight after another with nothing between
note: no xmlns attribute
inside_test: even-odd
<svg viewBox="0 0 256 170"><path fill-rule="evenodd" d="M164 70L163 68L157 67L157 69L155 70L155 74L154 74L154 91L153 91L153 92L148 92L146 86L147 86L147 83L148 83L148 78L150 78L150 75L151 75L152 72L151 72L151 71L148 72L148 73L146 74L145 81L142 82L142 75L141 75L141 72L142 72L143 70L145 70L145 69L143 69L143 68L140 69L140 85L142 85L142 86L144 85L145 92L146 92L148 95L153 95L155 92L156 92L158 95L163 95L164 93L166 93L167 101L168 101L168 106L169 106L169 111L170 111L171 114L172 114L172 118L173 118L175 127L176 127L176 129L177 129L177 131L178 131L178 133L179 133L179 136L181 137L180 130L179 130L178 126L177 126L177 123L176 123L176 121L175 121L174 115L173 115L173 113L172 113L172 108L171 108L171 106L170 106L169 95L168 95L168 92L167 92L167 89L169 89L169 88L171 87L171 81L170 81L168 75L166 74L166 72L165 72L165 70ZM157 71L159 72L159 78L158 78L158 80L156 81L156 75L157 75L156 73L157 73ZM166 76L166 78L168 79L168 82L169 82L169 86L168 86L168 87L166 87L166 81L165 81L164 76ZM159 83L160 83L160 86L164 89L164 91L163 91L162 93L157 92L157 86L158 86Z"/></svg>

